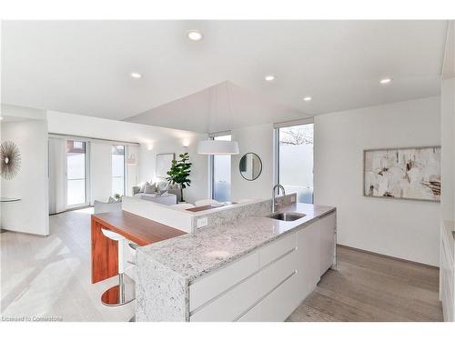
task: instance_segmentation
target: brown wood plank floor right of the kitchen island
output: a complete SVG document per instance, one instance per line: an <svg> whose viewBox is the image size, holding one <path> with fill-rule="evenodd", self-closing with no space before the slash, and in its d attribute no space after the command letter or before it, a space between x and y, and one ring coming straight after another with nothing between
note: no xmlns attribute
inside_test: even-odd
<svg viewBox="0 0 455 341"><path fill-rule="evenodd" d="M439 270L338 247L338 269L288 321L442 321Z"/></svg>

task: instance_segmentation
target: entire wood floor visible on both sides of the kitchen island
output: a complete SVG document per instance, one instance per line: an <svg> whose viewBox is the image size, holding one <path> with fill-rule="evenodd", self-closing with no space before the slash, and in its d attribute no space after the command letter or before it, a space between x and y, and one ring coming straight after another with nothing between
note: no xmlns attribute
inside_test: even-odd
<svg viewBox="0 0 455 341"><path fill-rule="evenodd" d="M103 306L112 278L90 283L90 208L50 216L51 236L5 232L1 239L1 315L64 321L127 321L135 303ZM441 321L438 270L338 249L339 267L289 321Z"/></svg>

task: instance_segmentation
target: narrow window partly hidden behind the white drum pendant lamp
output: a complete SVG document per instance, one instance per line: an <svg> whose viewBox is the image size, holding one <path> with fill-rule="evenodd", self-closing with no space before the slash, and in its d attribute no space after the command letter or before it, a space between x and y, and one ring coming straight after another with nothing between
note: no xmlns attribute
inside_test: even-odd
<svg viewBox="0 0 455 341"><path fill-rule="evenodd" d="M231 135L219 135L215 140L230 141ZM230 155L212 155L212 198L230 201Z"/></svg>

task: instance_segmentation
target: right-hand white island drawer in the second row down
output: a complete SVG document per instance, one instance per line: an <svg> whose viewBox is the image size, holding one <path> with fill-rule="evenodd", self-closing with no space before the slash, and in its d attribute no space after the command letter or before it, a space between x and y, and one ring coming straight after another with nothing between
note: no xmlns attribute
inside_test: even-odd
<svg viewBox="0 0 455 341"><path fill-rule="evenodd" d="M296 249L277 261L265 266L259 272L259 297L265 296L279 286L289 275L297 271L298 253Z"/></svg>

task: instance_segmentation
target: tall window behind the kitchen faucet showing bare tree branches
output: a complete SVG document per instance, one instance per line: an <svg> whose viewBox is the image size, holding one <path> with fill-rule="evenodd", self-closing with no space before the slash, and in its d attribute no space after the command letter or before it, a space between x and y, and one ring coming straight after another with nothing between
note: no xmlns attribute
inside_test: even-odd
<svg viewBox="0 0 455 341"><path fill-rule="evenodd" d="M276 129L277 180L300 203L313 203L313 124Z"/></svg>

